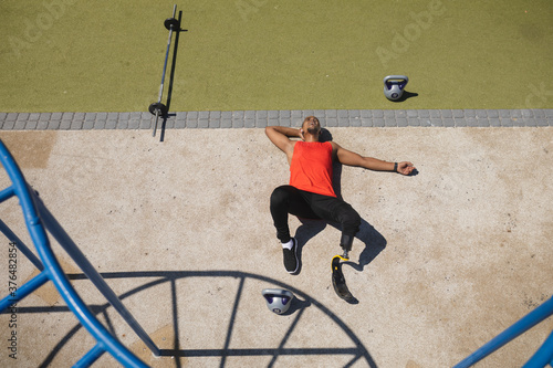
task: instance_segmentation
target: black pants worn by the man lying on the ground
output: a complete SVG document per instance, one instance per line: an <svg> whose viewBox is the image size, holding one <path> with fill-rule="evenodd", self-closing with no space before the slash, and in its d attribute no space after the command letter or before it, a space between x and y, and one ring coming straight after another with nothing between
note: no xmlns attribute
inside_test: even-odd
<svg viewBox="0 0 553 368"><path fill-rule="evenodd" d="M271 194L271 215L276 228L276 238L282 243L290 241L288 214L303 219L321 219L342 224L341 245L352 249L355 234L359 231L359 214L343 200L312 193L292 186L281 186Z"/></svg>

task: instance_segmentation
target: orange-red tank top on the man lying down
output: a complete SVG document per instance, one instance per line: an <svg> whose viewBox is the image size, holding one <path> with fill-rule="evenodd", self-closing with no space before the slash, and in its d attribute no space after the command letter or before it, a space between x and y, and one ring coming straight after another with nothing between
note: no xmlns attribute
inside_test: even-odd
<svg viewBox="0 0 553 368"><path fill-rule="evenodd" d="M290 185L300 190L336 197L332 188L332 144L296 141L290 164Z"/></svg>

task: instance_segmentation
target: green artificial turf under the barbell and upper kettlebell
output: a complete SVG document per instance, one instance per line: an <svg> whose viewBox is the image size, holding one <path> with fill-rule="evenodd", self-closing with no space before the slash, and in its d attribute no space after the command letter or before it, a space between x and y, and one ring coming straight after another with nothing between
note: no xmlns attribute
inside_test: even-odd
<svg viewBox="0 0 553 368"><path fill-rule="evenodd" d="M173 4L3 0L0 112L146 111ZM553 107L551 0L187 0L179 11L171 111ZM388 74L418 96L387 101Z"/></svg>

